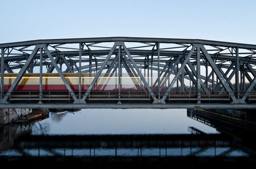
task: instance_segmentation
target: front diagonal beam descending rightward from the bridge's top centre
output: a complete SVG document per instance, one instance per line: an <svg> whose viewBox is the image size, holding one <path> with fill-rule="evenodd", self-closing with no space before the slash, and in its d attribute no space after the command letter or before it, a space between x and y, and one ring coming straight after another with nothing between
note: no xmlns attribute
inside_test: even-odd
<svg viewBox="0 0 256 169"><path fill-rule="evenodd" d="M143 75L142 75L141 71L139 70L139 68L138 68L138 66L137 66L137 64L136 64L136 62L132 59L132 56L131 56L129 50L126 48L124 42L122 42L122 47L124 48L125 53L128 55L130 61L132 62L132 65L134 66L134 68L135 68L135 70L137 71L138 75L140 76L140 78L141 78L143 84L147 87L150 96L154 99L154 102L153 102L153 103L159 103L159 100L155 97L153 91L150 89L150 87L149 87L147 81L146 81L145 78L143 77ZM126 56L124 55L124 57L126 57Z"/></svg>

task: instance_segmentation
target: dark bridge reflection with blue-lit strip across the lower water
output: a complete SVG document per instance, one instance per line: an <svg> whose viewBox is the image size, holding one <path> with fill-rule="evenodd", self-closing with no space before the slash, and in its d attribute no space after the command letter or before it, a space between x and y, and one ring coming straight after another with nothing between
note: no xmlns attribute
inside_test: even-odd
<svg viewBox="0 0 256 169"><path fill-rule="evenodd" d="M232 141L210 135L54 135L26 136L13 147L31 156L218 156ZM68 153L67 153L68 151ZM207 152L208 151L208 152ZM226 150L227 151L227 150ZM238 156L246 153L232 149ZM26 155L28 153L24 152Z"/></svg>

